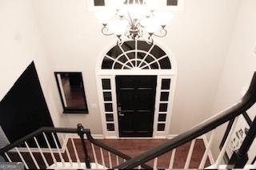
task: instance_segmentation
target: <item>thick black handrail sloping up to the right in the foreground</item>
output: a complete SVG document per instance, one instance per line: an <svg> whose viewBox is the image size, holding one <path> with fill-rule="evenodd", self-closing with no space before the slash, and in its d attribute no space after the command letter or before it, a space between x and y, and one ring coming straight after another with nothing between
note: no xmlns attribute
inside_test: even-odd
<svg viewBox="0 0 256 170"><path fill-rule="evenodd" d="M135 168L140 164L144 164L149 160L154 159L155 157L161 156L162 154L169 152L170 150L177 148L182 144L186 144L190 140L194 140L198 136L202 136L206 132L210 132L214 128L226 123L238 117L240 114L246 112L247 109L250 109L252 105L256 102L256 72L254 72L254 76L250 83L250 88L246 92L245 96L242 97L240 101L238 101L235 105L218 113L216 116L211 117L210 119L200 123L199 125L194 126L187 132L183 132L182 134L174 137L171 140L166 141L166 143L159 145L156 148L150 149L147 152L142 153L139 156L135 156L134 158L127 160L125 163L118 165L118 169L126 169L126 168Z"/></svg>

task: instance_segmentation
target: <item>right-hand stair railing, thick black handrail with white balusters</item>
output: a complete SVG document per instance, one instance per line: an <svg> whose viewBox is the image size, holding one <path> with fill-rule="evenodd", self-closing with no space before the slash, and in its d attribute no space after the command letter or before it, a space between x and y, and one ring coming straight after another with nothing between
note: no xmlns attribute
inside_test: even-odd
<svg viewBox="0 0 256 170"><path fill-rule="evenodd" d="M154 160L154 168L158 168L158 157L162 156L166 152L170 152L173 150L175 151L175 148L178 148L182 144L186 144L187 142L191 141L190 144L190 151L186 159L186 164L184 168L189 168L188 165L190 164L190 158L191 153L193 152L194 148L194 140L198 136L202 136L203 134L206 134L207 132L210 132L214 130L215 128L218 128L218 126L225 124L228 121L232 121L234 119L237 119L239 115L242 115L242 113L245 113L246 110L250 109L252 105L254 105L256 101L256 73L254 73L254 76L252 78L252 81L250 83L250 88L242 97L240 101L238 101L235 105L231 106L228 109L225 109L221 113L218 113L214 117L210 117L210 119L203 121L202 123L194 126L194 128L191 128L187 132L183 132L182 134L174 137L171 140L166 141L166 143L159 145L156 148L152 148L147 152L142 153L141 155L135 156L134 158L127 160L125 163L118 165L118 169L126 169L126 168L136 168L141 164L145 164L146 162L150 160ZM233 124L232 129L230 130L230 134L234 130L235 123ZM254 138L256 136L256 118L254 119L252 125L250 126L250 130L248 134L246 135L246 139L243 141L242 147L238 149L237 152L234 152L233 156L231 156L230 162L229 162L229 168L243 168L246 164L246 161L248 160L247 152L250 148L250 145L254 141ZM224 147L222 148L222 151L220 152L218 156L218 160L212 166L212 168L218 168L218 166L221 164L222 157L225 152L225 148L229 142L230 134L226 139L226 142L224 144ZM212 135L210 137L210 142L212 142L212 139L214 138L214 132L212 132ZM206 152L208 152L210 149L210 146L207 146ZM202 160L206 160L206 152L205 156L202 158ZM170 159L170 164L172 164ZM204 163L201 162L199 168L203 168Z"/></svg>

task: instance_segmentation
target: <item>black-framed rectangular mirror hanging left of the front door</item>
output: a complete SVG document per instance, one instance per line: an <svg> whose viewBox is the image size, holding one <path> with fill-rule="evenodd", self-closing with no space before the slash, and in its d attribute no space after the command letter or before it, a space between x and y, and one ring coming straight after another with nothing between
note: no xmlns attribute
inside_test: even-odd
<svg viewBox="0 0 256 170"><path fill-rule="evenodd" d="M63 113L88 113L86 93L80 72L54 72Z"/></svg>

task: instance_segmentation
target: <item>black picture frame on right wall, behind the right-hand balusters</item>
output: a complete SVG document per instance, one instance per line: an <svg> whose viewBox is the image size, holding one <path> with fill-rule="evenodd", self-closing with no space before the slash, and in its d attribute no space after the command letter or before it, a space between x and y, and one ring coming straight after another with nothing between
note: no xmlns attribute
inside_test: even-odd
<svg viewBox="0 0 256 170"><path fill-rule="evenodd" d="M249 127L250 127L250 125L252 125L252 121L251 121L250 117L248 116L248 113L246 113L246 112L245 112L245 113L242 113L242 117L246 120L246 123L247 123L247 124L249 125ZM221 144L219 145L219 149L220 149L220 150L222 150L222 147L223 147L223 145L224 145L225 142L226 142L226 138L227 138L227 136L229 135L230 130L231 130L233 124L234 124L234 119L231 120L231 121L229 121L229 124L227 125L226 131L225 131L224 136L223 136L223 138L222 138L222 142L221 142ZM225 161L225 164L228 164L228 162L229 162L229 160L230 160L230 157L228 156L228 154L227 154L226 152L225 152L225 154L224 154L223 159L224 159L224 161ZM254 164L255 161L256 161L256 156L254 157L254 160L252 161L252 164Z"/></svg>

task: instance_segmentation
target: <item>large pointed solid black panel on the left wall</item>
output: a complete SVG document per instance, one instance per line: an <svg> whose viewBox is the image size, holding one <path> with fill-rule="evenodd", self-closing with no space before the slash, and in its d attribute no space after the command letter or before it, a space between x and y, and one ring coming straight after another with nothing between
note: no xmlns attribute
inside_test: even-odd
<svg viewBox="0 0 256 170"><path fill-rule="evenodd" d="M6 74L8 71L11 70L6 70ZM10 142L42 126L54 126L34 62L26 68L0 102L0 125Z"/></svg>

